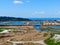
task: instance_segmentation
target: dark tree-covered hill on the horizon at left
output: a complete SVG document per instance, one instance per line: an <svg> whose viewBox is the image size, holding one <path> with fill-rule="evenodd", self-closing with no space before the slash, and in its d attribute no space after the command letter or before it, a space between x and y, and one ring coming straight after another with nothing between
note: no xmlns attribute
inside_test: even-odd
<svg viewBox="0 0 60 45"><path fill-rule="evenodd" d="M16 17L0 17L0 21L30 21L30 19Z"/></svg>

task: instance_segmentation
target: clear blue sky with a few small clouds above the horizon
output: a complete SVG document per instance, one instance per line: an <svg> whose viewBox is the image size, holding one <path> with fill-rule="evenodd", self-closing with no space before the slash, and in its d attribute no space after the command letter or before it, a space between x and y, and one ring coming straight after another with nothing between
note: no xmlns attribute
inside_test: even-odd
<svg viewBox="0 0 60 45"><path fill-rule="evenodd" d="M0 0L0 16L60 18L60 0Z"/></svg>

